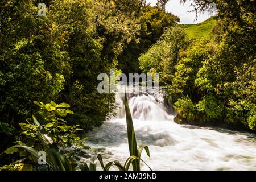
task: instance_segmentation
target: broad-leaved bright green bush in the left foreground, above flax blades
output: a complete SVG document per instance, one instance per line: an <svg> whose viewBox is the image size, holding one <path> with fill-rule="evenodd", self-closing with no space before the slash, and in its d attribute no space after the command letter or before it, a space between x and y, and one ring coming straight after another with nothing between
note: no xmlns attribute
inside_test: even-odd
<svg viewBox="0 0 256 182"><path fill-rule="evenodd" d="M82 131L79 125L72 126L71 123L63 119L67 114L73 114L73 111L68 109L70 107L69 104L55 104L55 102L44 104L43 102L39 103L37 101L34 101L34 103L40 107L38 114L41 118L40 126L44 134L51 138L57 147L67 148L74 146L75 150L80 147L89 148L84 145L84 141L87 138L81 140L80 137L77 137L77 132ZM33 119L36 121L34 116ZM35 134L38 126L29 122L19 123L19 125L22 129L22 134L26 138L22 142L26 141L30 143L30 146L34 146L35 142L38 142L38 137Z"/></svg>

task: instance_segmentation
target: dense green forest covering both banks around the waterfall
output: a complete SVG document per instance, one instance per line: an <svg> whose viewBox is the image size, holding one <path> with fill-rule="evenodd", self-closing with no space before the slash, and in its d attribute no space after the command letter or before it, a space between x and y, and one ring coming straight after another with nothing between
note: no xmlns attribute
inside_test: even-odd
<svg viewBox="0 0 256 182"><path fill-rule="evenodd" d="M196 0L194 11L212 2L218 13L202 31L180 25L167 1L0 1L0 166L28 156L6 152L14 142L42 148L36 118L57 146L89 148L77 136L115 114L115 94L97 92L112 68L159 73L178 123L255 133L256 1Z"/></svg>

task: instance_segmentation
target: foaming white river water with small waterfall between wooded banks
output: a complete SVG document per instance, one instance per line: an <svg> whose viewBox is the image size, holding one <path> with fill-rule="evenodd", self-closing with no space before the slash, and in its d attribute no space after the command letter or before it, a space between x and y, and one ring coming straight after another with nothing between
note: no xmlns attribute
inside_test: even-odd
<svg viewBox="0 0 256 182"><path fill-rule="evenodd" d="M118 94L117 103L117 117L86 134L87 143L105 163L124 163L129 157L125 110ZM256 170L255 135L178 125L161 93L129 94L129 106L138 145L150 148L151 158L143 154L142 159L153 170Z"/></svg>

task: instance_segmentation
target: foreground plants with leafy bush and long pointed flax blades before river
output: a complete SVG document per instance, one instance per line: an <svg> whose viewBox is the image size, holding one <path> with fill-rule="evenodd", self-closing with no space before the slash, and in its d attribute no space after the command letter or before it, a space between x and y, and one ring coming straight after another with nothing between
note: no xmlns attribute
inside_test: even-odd
<svg viewBox="0 0 256 182"><path fill-rule="evenodd" d="M73 126L75 130L70 130L72 127L64 126L64 119L56 118L63 117L67 113L72 113L71 110L64 109L69 108L69 105L66 103L55 104L55 102L51 102L49 104L43 104L43 102L34 101L36 105L38 105L41 110L38 111L40 115L43 116L43 125L41 125L38 120L32 115L33 123L20 123L22 126L22 130L24 130L23 134L25 138L23 141L16 142L18 143L15 146L7 148L2 154L14 154L15 152L19 152L20 157L25 157L23 159L17 160L10 165L5 165L0 167L1 170L32 170L33 166L30 163L24 163L25 159L28 158L34 163L35 166L37 164L35 161L43 160L53 171L73 171L76 169L80 169L81 171L96 171L97 169L97 160L101 164L101 168L104 171L109 171L112 166L116 166L120 171L128 171L131 164L133 164L133 169L135 171L140 170L140 162L141 153L143 150L146 150L147 155L150 156L150 152L147 146L139 146L137 148L137 141L135 138L134 128L133 128L133 120L131 119L130 109L127 103L127 98L125 94L125 105L126 105L126 115L127 115L127 131L128 131L128 144L130 149L131 156L127 158L125 164L122 166L120 162L117 160L113 162L109 162L104 165L102 156L100 154L92 155L89 163L89 167L87 163L77 163L73 160L73 152L70 154L67 152L66 154L61 154L60 148L67 148L71 146L67 146L66 142L69 140L73 147L79 146L80 148L89 148L88 146L84 146L84 141L87 138L80 140L79 137L76 137L75 130L80 130L77 126ZM73 113L72 113L73 114ZM57 123L56 123L57 122ZM56 125L56 126L55 126ZM54 130L56 129L56 130ZM59 131L61 129L62 131ZM69 133L70 132L70 133ZM50 137L49 137L50 136ZM27 137L29 139L27 139ZM63 137L66 137L67 140L63 140ZM74 138L75 137L75 138ZM62 141L61 141L62 140ZM80 140L80 141L78 141ZM26 143L23 143L27 141ZM61 141L61 142L59 142ZM64 142L64 143L63 143ZM20 150L19 150L20 149ZM46 152L46 160L40 159L39 151ZM26 154L27 153L27 154ZM0 156L2 155L0 154ZM145 163L146 164L146 163ZM146 164L147 165L147 164ZM150 168L150 167L148 167Z"/></svg>

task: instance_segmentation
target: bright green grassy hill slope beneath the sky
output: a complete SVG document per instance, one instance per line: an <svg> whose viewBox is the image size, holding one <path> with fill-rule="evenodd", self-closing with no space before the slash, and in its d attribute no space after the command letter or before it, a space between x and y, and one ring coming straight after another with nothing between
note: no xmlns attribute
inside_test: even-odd
<svg viewBox="0 0 256 182"><path fill-rule="evenodd" d="M202 23L199 24L181 24L180 26L185 29L188 36L191 38L209 38L212 34L212 28L216 20L209 18Z"/></svg>

